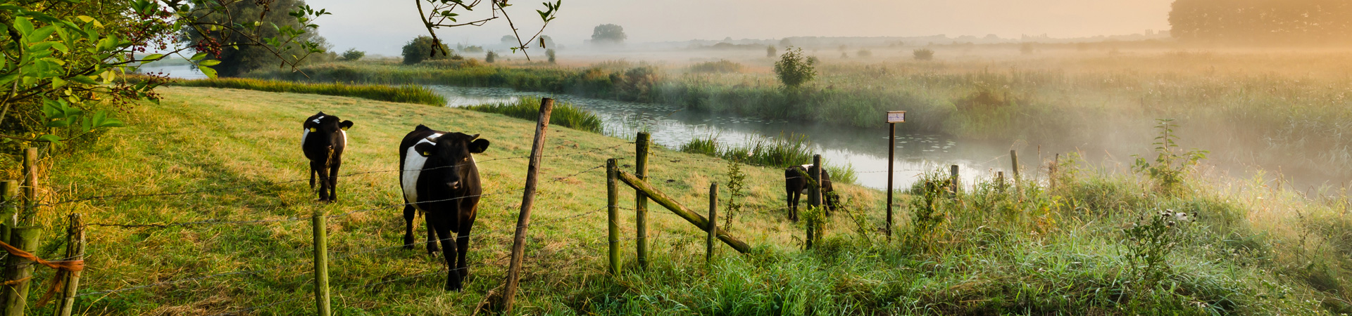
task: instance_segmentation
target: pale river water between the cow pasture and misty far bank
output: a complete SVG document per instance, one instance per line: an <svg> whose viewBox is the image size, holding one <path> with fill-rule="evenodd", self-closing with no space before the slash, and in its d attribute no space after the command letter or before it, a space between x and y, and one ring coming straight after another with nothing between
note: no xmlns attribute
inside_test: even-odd
<svg viewBox="0 0 1352 316"><path fill-rule="evenodd" d="M595 112L604 122L606 132L612 136L631 139L634 132L648 130L653 135L653 142L672 149L680 147L690 139L711 135L717 136L719 143L729 144L746 144L765 136L807 135L813 142L813 151L821 153L829 163L853 166L860 185L876 189L887 186L887 130L718 116L661 104L516 92L507 88L443 85L429 88L446 96L450 107L515 101L521 97L553 97ZM879 113L879 117L882 115ZM948 165L961 166L963 182L972 184L976 177L988 177L995 170L1003 172L1002 165L1009 163L1007 154L1007 144L957 140L932 134L898 134L894 188L907 188L921 173L938 167L946 170Z"/></svg>

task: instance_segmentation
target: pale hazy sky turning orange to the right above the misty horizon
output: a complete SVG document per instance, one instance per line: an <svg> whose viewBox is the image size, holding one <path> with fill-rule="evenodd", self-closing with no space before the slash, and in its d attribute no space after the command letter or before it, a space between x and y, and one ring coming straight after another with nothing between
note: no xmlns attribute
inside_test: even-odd
<svg viewBox="0 0 1352 316"><path fill-rule="evenodd" d="M414 0L307 0L334 15L319 34L337 50L396 55L426 34ZM581 45L596 24L625 27L630 42L786 36L923 36L1048 34L1055 38L1168 30L1172 0L564 0L545 31L560 45ZM538 30L539 1L508 7L521 30ZM487 7L480 11L487 11ZM525 24L525 26L523 26ZM498 43L506 20L438 31L448 42Z"/></svg>

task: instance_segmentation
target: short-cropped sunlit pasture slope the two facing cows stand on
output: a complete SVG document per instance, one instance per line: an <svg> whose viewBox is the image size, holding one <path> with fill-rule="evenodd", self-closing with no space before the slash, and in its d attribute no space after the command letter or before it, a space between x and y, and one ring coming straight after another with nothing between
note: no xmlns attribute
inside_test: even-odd
<svg viewBox="0 0 1352 316"><path fill-rule="evenodd" d="M192 278L235 270L260 270L247 275L226 275L81 300L89 313L120 315L201 315L273 304L258 313L312 311L311 230L315 211L330 213L372 209L329 220L331 288L334 308L342 313L365 309L372 313L465 315L483 293L498 286L506 270L511 230L519 208L533 123L500 115L460 109L395 104L350 97L293 93L262 93L234 89L164 88L165 100L132 109L128 127L112 131L104 143L88 153L57 163L53 184L57 199L184 192L235 185L246 189L193 193L172 197L118 199L62 205L47 209L45 224L58 226L57 213L81 212L91 223L170 223L195 220L281 220L256 224L207 224L172 228L89 228L89 270L81 288L104 290L131 288L155 281ZM299 151L299 122L314 112L338 115L356 122L345 154L342 173L380 172L397 167L396 140L418 123L439 130L483 134L492 147L483 155L480 170L485 196L480 204L469 261L473 266L468 290L445 293L441 261L418 251L399 248L361 253L397 246L403 219L395 173L370 173L339 180L335 204L315 204L304 181L306 161ZM608 149L608 150L607 150ZM631 163L633 144L625 140L556 128L549 135L546 154L594 151L545 158L542 182L527 247L519 304L523 311L569 311L558 293L583 286L603 271L604 262L604 173L594 166L621 157ZM495 158L512 158L491 161ZM688 207L703 209L702 192L710 181L723 181L726 165L702 161L669 150L652 158L652 178ZM591 172L587 172L591 170ZM791 224L779 220L783 207L777 180L780 173L748 167L752 209L733 235L753 246L791 247ZM575 177L566 177L587 172ZM871 190L846 189L859 200L880 199ZM622 201L631 207L633 193ZM702 235L672 215L656 211L652 224L658 255L702 253ZM771 215L775 213L775 215ZM577 216L571 220L556 221ZM631 212L622 216L631 221ZM420 221L420 219L418 220ZM419 223L420 224L420 223ZM631 236L631 224L622 224ZM419 226L419 240L422 239ZM49 230L55 231L55 230ZM47 240L57 240L49 234ZM695 239L699 238L699 239ZM626 240L625 244L633 244ZM49 242L47 251L58 244ZM726 247L725 247L726 248ZM631 258L627 246L626 258ZM725 250L727 251L727 250ZM343 258L352 255L349 258ZM50 255L46 255L50 257ZM691 266L690 269L694 269ZM430 273L430 274L429 274ZM420 275L420 277L414 277ZM404 278L414 277L414 278ZM384 284L379 284L384 282ZM379 284L379 285L373 285ZM291 300L291 301L287 301Z"/></svg>

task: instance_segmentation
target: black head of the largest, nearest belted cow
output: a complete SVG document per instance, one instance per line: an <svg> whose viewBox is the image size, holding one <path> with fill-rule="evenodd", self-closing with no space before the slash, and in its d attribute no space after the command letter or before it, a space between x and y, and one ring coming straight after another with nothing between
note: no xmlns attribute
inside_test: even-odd
<svg viewBox="0 0 1352 316"><path fill-rule="evenodd" d="M427 157L423 167L423 177L431 177L433 184L445 184L449 189L457 190L469 178L470 170L476 170L473 154L488 150L488 139L479 139L479 134L464 132L443 134L427 138L427 142L418 142L414 150L419 155Z"/></svg>

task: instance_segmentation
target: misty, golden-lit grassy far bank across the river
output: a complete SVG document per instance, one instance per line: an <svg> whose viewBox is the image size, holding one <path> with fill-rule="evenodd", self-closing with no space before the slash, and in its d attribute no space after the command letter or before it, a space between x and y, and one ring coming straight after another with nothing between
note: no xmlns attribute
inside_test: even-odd
<svg viewBox="0 0 1352 316"><path fill-rule="evenodd" d="M665 104L742 117L886 130L880 113L907 109L902 132L1132 155L1148 146L1155 119L1178 119L1187 144L1213 161L1261 166L1340 185L1352 178L1352 86L1337 53L1071 54L942 62L825 59L819 80L779 86L745 61L741 73L606 62L587 68L541 63L339 62L307 66L312 80L341 82L503 86L518 90ZM304 80L297 73L256 77ZM1244 154L1240 154L1244 153ZM1247 172L1247 170L1244 170Z"/></svg>

